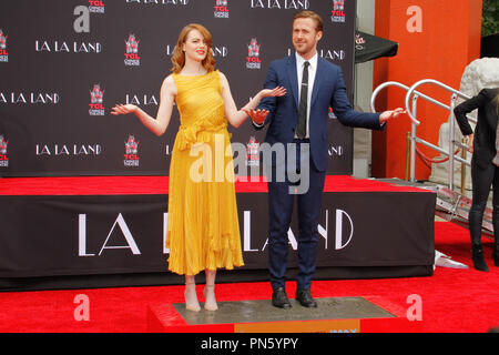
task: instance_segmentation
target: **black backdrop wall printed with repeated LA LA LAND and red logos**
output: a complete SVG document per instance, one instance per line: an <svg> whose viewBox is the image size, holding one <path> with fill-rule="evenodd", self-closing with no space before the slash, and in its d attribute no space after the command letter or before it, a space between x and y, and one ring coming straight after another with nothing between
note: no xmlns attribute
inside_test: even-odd
<svg viewBox="0 0 499 355"><path fill-rule="evenodd" d="M217 68L242 106L269 62L293 52L293 14L314 10L325 24L319 55L342 67L352 98L355 8L355 0L2 0L0 176L167 174L176 110L161 138L110 110L132 102L155 116L190 22L212 32ZM330 118L328 173L350 174L352 130ZM244 145L265 134L249 122L230 130Z"/></svg>

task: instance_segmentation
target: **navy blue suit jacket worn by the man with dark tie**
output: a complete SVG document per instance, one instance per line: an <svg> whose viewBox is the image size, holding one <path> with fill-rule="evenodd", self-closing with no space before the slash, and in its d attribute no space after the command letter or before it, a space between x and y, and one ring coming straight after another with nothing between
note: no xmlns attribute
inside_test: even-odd
<svg viewBox="0 0 499 355"><path fill-rule="evenodd" d="M293 142L298 123L297 78L295 53L273 61L268 68L264 88L286 88L286 95L265 98L257 108L269 111L264 124L268 124L265 138L268 144ZM318 58L317 61L314 88L309 100L312 100L308 122L310 153L318 171L327 170L329 106L333 108L333 112L339 122L345 125L374 130L383 129L379 124L379 113L363 113L353 110L346 94L340 68L323 58ZM255 128L261 129L263 125L255 125Z"/></svg>

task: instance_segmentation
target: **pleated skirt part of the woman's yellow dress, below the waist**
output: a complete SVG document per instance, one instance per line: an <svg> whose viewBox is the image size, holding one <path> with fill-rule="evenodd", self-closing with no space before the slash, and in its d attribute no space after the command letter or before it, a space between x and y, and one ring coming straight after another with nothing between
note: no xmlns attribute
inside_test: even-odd
<svg viewBox="0 0 499 355"><path fill-rule="evenodd" d="M234 168L226 128L217 132L197 132L196 141L201 142L190 149L179 149L185 145L186 135L189 132L177 134L170 166L169 270L181 275L195 275L204 270L243 266ZM228 156L225 155L227 145Z"/></svg>

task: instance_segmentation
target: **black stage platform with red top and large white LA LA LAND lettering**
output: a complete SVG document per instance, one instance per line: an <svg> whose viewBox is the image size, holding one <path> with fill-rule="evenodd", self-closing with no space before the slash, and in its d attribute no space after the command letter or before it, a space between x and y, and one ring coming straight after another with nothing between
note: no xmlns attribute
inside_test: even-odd
<svg viewBox="0 0 499 355"><path fill-rule="evenodd" d="M1 179L0 290L182 284L167 272L165 186L167 176ZM245 266L217 281L267 281L266 184L236 193ZM435 202L428 190L327 176L316 278L431 275ZM289 278L296 233L294 221Z"/></svg>

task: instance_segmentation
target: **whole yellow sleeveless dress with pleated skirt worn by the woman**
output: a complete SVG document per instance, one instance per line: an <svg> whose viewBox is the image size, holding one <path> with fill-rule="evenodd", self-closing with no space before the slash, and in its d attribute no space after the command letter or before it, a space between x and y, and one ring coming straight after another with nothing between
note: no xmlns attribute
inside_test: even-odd
<svg viewBox="0 0 499 355"><path fill-rule="evenodd" d="M170 164L169 270L242 266L234 166L218 71L172 74L181 126Z"/></svg>

